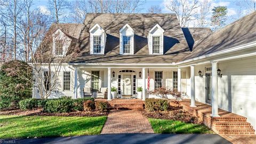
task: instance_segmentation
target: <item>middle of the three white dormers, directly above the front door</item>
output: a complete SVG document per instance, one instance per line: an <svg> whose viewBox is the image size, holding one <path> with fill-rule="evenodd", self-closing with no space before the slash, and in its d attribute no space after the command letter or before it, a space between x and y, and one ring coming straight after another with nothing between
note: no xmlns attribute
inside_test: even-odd
<svg viewBox="0 0 256 144"><path fill-rule="evenodd" d="M126 23L119 30L120 54L134 54L134 30Z"/></svg>

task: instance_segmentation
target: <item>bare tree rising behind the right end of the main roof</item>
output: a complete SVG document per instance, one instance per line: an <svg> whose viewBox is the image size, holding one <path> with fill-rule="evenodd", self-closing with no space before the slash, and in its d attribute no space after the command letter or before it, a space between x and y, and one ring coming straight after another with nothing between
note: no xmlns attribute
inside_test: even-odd
<svg viewBox="0 0 256 144"><path fill-rule="evenodd" d="M195 20L199 5L197 0L173 0L166 7L177 15L181 27L188 27L188 22Z"/></svg>

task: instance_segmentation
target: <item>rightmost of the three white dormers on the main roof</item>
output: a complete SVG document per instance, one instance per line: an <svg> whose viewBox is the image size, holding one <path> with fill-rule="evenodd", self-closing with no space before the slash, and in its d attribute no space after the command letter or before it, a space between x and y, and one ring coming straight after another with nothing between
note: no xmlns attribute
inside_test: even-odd
<svg viewBox="0 0 256 144"><path fill-rule="evenodd" d="M156 24L148 33L149 54L164 53L164 30Z"/></svg>

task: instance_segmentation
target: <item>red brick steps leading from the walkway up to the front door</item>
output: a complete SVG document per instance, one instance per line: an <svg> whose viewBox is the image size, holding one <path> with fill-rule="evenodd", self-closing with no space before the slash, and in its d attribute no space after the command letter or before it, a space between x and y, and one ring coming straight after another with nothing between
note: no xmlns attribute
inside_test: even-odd
<svg viewBox="0 0 256 144"><path fill-rule="evenodd" d="M140 99L113 99L107 101L105 99L97 99L96 101L106 101L109 108L113 109L133 109L140 110L143 109L145 102Z"/></svg>

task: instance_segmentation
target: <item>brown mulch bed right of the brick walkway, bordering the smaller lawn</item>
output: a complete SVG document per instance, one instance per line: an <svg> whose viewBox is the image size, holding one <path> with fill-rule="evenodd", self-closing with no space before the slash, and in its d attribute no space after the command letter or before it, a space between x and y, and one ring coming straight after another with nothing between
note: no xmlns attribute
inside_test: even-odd
<svg viewBox="0 0 256 144"><path fill-rule="evenodd" d="M181 108L170 108L168 111L147 111L140 110L140 113L147 118L170 119L186 123L203 124L196 116L189 114Z"/></svg>

